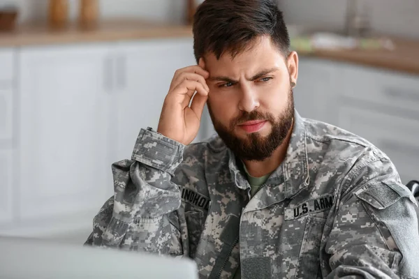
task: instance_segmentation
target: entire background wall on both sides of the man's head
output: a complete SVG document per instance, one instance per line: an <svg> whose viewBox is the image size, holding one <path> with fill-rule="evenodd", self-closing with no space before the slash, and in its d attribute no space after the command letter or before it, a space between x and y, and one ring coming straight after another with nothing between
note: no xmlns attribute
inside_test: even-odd
<svg viewBox="0 0 419 279"><path fill-rule="evenodd" d="M77 17L78 0L71 3L71 17ZM184 20L186 0L99 0L103 18L140 17L175 22ZM203 1L203 0L198 0ZM307 24L319 29L343 30L344 0L277 0L289 24ZM372 28L379 33L419 38L419 0L363 0L372 3ZM20 22L45 19L48 0L0 0L20 8Z"/></svg>

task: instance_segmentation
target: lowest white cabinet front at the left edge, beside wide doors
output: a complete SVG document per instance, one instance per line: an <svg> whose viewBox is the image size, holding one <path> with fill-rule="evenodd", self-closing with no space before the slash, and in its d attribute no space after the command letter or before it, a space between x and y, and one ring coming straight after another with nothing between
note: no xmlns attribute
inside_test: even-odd
<svg viewBox="0 0 419 279"><path fill-rule="evenodd" d="M0 227L13 220L13 151L0 150Z"/></svg>

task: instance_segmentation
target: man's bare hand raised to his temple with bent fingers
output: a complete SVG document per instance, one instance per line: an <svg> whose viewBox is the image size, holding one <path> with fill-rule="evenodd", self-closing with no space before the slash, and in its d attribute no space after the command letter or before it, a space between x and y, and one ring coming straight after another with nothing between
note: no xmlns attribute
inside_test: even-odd
<svg viewBox="0 0 419 279"><path fill-rule="evenodd" d="M184 145L190 144L198 135L210 91L205 82L210 73L204 68L205 63L201 58L197 66L175 72L161 110L158 133Z"/></svg>

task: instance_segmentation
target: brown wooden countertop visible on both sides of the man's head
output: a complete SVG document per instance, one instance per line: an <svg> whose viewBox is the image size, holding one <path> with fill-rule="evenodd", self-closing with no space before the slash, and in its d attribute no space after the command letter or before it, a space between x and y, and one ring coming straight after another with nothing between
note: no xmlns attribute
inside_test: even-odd
<svg viewBox="0 0 419 279"><path fill-rule="evenodd" d="M94 29L80 29L77 25L71 25L63 30L53 30L45 24L27 24L18 26L13 32L0 33L0 47L191 36L192 29L188 25L157 24L139 20L102 22ZM391 37L390 40L395 45L395 50L313 50L298 53L300 56L345 61L419 75L419 40Z"/></svg>

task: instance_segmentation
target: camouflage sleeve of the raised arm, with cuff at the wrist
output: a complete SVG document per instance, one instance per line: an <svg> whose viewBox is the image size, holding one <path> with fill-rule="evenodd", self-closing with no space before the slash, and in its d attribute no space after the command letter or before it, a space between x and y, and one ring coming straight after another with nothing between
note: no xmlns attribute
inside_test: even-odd
<svg viewBox="0 0 419 279"><path fill-rule="evenodd" d="M112 164L115 194L94 217L85 245L187 255L180 190L171 181L184 147L142 129L131 160Z"/></svg>

